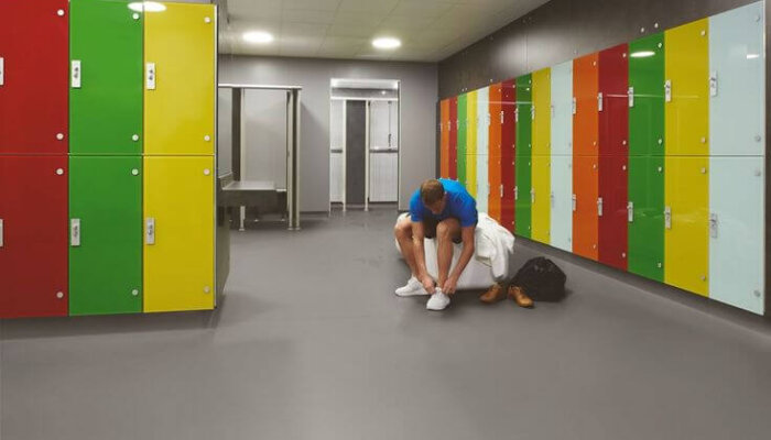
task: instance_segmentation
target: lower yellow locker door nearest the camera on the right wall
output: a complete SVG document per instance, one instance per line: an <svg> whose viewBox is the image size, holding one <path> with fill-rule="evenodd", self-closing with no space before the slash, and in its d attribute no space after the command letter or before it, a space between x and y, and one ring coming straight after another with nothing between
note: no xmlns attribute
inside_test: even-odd
<svg viewBox="0 0 771 440"><path fill-rule="evenodd" d="M664 162L664 282L708 295L709 157Z"/></svg>

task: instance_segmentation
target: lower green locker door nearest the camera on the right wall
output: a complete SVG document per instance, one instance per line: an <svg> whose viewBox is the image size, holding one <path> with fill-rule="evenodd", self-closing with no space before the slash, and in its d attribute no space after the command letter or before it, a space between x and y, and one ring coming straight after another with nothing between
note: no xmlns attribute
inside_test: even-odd
<svg viewBox="0 0 771 440"><path fill-rule="evenodd" d="M629 272L664 280L664 157L629 157Z"/></svg>

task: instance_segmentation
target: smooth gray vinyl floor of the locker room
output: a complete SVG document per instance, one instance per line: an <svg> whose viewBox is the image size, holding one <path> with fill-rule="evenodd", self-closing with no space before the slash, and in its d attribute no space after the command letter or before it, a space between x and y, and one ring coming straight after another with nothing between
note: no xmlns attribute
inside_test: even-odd
<svg viewBox="0 0 771 440"><path fill-rule="evenodd" d="M2 440L771 438L768 321L565 255L562 302L428 312L394 216L236 232L215 314L2 322Z"/></svg>

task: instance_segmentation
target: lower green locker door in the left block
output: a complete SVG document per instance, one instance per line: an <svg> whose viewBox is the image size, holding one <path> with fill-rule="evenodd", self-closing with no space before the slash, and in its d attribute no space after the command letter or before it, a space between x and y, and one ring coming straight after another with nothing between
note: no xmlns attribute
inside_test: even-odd
<svg viewBox="0 0 771 440"><path fill-rule="evenodd" d="M69 158L69 312L142 311L142 158Z"/></svg>

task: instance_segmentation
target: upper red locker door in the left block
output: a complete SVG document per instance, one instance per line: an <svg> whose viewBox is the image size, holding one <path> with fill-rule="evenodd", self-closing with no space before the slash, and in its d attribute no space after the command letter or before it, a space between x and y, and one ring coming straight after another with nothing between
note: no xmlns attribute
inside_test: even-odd
<svg viewBox="0 0 771 440"><path fill-rule="evenodd" d="M0 153L67 153L67 0L0 1Z"/></svg>

